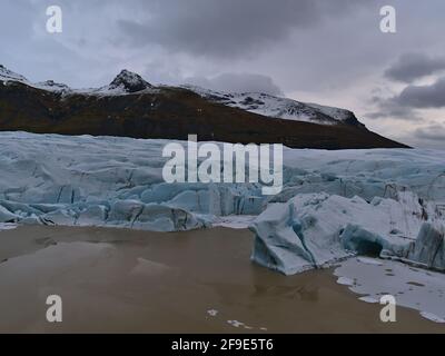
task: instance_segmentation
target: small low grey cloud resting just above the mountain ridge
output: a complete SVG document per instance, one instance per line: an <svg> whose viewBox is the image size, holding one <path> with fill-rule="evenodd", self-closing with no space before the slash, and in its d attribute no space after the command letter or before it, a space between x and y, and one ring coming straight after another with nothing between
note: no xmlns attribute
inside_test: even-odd
<svg viewBox="0 0 445 356"><path fill-rule="evenodd" d="M253 73L222 73L214 78L192 77L187 83L217 91L233 92L265 92L271 96L281 96L283 91L270 77Z"/></svg>

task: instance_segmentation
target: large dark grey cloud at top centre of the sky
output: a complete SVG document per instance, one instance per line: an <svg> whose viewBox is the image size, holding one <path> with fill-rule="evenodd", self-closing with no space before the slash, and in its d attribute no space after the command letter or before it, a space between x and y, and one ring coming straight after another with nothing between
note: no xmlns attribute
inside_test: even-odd
<svg viewBox="0 0 445 356"><path fill-rule="evenodd" d="M147 20L118 20L126 41L157 43L171 51L231 58L273 46L294 29L325 16L347 13L374 1L337 0L169 0L142 1Z"/></svg>

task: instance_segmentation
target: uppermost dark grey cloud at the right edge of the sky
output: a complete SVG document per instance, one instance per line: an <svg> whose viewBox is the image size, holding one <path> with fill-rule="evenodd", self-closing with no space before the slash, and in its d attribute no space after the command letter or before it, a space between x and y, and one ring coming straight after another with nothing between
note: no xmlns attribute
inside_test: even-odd
<svg viewBox="0 0 445 356"><path fill-rule="evenodd" d="M433 58L424 53L405 53L385 71L385 77L412 82L444 69L445 58Z"/></svg>

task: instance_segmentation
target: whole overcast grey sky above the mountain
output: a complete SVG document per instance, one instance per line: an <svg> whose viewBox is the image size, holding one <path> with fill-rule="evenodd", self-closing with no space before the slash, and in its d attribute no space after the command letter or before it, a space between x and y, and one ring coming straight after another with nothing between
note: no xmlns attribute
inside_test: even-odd
<svg viewBox="0 0 445 356"><path fill-rule="evenodd" d="M60 6L62 33L46 30ZM383 33L379 10L396 9ZM31 81L265 91L344 107L372 130L445 149L444 0L1 0L0 63Z"/></svg>

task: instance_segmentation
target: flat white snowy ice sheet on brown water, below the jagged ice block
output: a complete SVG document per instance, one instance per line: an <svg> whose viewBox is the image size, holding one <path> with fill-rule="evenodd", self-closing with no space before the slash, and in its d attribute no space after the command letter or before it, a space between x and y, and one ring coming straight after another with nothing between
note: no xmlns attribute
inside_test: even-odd
<svg viewBox="0 0 445 356"><path fill-rule="evenodd" d="M335 269L338 284L362 295L360 300L379 303L383 295L393 295L397 306L421 312L436 323L445 323L445 278L443 274L414 268L393 260L350 258ZM349 280L345 284L344 280Z"/></svg>

